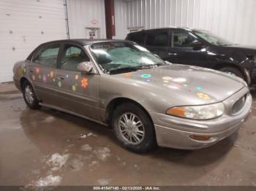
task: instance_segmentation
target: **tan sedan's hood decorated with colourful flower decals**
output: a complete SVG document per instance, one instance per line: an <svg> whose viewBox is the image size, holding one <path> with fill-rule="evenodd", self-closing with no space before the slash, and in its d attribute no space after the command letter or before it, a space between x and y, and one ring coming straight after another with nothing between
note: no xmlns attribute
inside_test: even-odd
<svg viewBox="0 0 256 191"><path fill-rule="evenodd" d="M113 76L121 78L126 85L139 87L141 91L146 88L148 93L162 95L165 98L179 97L183 104L210 104L223 101L245 86L245 82L238 77L212 69L180 64Z"/></svg>

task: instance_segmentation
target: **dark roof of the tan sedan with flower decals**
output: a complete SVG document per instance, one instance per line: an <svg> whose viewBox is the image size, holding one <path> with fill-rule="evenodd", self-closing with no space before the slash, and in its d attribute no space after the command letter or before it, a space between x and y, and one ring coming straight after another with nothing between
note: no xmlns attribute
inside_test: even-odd
<svg viewBox="0 0 256 191"><path fill-rule="evenodd" d="M129 42L129 41L120 40L120 39L61 39L61 40L45 42L41 45L52 44L52 43L76 43L76 44L85 46L85 45L90 45L97 42Z"/></svg>

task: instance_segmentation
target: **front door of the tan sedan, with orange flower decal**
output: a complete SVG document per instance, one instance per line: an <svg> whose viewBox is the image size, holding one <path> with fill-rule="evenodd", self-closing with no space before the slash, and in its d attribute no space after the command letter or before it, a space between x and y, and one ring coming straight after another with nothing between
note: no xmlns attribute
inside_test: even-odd
<svg viewBox="0 0 256 191"><path fill-rule="evenodd" d="M56 70L59 104L71 112L99 120L99 75L78 71L78 64L90 61L86 50L76 44L64 44Z"/></svg>

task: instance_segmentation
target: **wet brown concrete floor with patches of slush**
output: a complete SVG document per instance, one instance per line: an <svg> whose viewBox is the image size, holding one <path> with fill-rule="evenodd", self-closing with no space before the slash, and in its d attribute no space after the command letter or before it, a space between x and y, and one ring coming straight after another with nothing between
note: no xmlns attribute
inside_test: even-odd
<svg viewBox="0 0 256 191"><path fill-rule="evenodd" d="M256 96L238 133L195 151L136 155L110 129L52 109L28 109L0 86L0 185L254 185ZM83 139L80 135L88 134Z"/></svg>

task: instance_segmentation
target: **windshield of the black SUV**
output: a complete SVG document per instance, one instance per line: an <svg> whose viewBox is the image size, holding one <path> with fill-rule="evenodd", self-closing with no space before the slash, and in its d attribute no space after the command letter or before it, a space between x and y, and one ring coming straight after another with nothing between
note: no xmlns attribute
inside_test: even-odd
<svg viewBox="0 0 256 191"><path fill-rule="evenodd" d="M232 45L233 43L228 42L225 39L220 38L219 36L215 36L208 31L194 31L197 36L200 36L202 39L207 42L217 45L217 46L227 46Z"/></svg>

